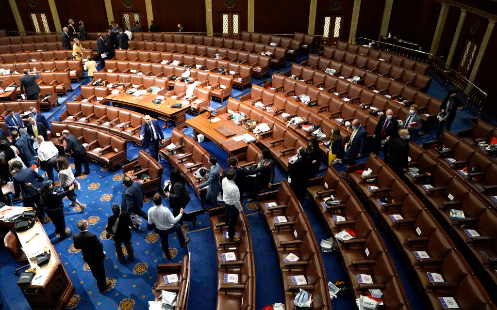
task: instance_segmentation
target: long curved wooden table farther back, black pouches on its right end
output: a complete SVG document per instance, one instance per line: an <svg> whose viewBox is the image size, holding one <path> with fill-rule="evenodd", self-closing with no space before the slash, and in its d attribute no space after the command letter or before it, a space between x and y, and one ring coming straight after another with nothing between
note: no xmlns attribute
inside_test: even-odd
<svg viewBox="0 0 497 310"><path fill-rule="evenodd" d="M173 121L176 127L184 127L186 125L186 111L191 108L191 104L181 106L180 109L171 108L170 106L181 103L181 101L164 97L163 103L160 106L156 106L152 104L152 100L156 99L157 96L156 94L146 93L140 97L135 97L131 94L125 95L123 92L120 92L118 95L108 95L105 99L112 102L113 106L127 105L154 112Z"/></svg>

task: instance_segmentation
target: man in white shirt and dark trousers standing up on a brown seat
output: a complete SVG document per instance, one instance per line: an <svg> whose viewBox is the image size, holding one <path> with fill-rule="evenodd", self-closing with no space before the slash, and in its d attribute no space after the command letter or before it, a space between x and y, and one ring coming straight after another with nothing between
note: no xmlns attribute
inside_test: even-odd
<svg viewBox="0 0 497 310"><path fill-rule="evenodd" d="M237 173L235 169L230 169L226 173L226 178L223 179L223 201L226 207L225 223L228 223L228 238L230 241L240 241L240 238L235 237L235 227L237 226L239 212L244 212L240 203L240 190L235 184Z"/></svg>

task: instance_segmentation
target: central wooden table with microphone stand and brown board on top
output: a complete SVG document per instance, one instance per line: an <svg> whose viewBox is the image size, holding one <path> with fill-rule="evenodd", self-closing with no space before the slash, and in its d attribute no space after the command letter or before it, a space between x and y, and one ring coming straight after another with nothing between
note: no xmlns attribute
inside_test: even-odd
<svg viewBox="0 0 497 310"><path fill-rule="evenodd" d="M201 133L207 138L214 141L219 147L225 149L228 152L228 157L231 156L239 156L244 153L247 153L247 142L244 140L235 141L233 138L239 136L244 133L248 133L248 131L242 127L242 125L237 125L233 123L233 121L228 120L219 120L212 124L209 124L209 119L206 119L206 115L208 113L200 114L192 119L186 121L186 124L193 128L193 138L197 139L197 134ZM214 119L214 118L213 118ZM217 130L215 127L224 126L235 133L234 136L225 137Z"/></svg>

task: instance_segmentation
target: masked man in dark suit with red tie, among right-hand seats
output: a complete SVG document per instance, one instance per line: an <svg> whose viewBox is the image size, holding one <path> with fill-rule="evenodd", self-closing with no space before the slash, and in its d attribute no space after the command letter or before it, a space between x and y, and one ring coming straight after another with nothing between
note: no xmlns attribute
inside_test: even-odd
<svg viewBox="0 0 497 310"><path fill-rule="evenodd" d="M393 117L394 111L388 109L385 111L385 114L380 117L376 128L374 129L373 138L374 138L374 146L373 153L376 155L379 154L381 150L381 142L386 140L383 145L383 158L385 163L388 163L388 151L390 148L390 143L392 139L396 137L397 130L399 128L399 123L397 122L397 118Z"/></svg>

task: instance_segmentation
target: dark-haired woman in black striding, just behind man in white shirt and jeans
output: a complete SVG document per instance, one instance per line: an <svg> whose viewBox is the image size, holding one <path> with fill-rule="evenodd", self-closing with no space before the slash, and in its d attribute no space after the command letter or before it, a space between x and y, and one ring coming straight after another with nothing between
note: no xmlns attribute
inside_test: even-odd
<svg viewBox="0 0 497 310"><path fill-rule="evenodd" d="M176 217L179 214L179 210L181 208L185 209L188 202L190 202L190 192L186 189L185 178L177 169L172 169L169 177L169 187L165 188L164 192L166 197L169 198L172 215ZM193 226L195 226L197 224L197 217L185 212L178 222L182 224L182 221L192 222Z"/></svg>

